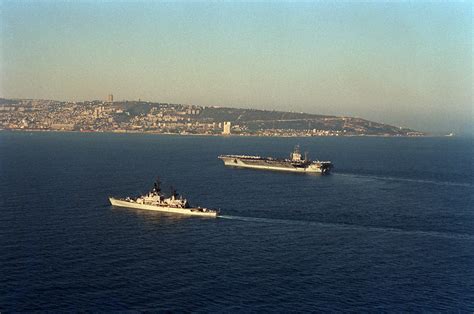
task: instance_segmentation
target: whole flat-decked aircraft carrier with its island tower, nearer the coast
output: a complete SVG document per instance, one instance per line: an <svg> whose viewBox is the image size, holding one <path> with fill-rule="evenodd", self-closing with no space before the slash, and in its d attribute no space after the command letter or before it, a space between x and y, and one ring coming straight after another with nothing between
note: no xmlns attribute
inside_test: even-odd
<svg viewBox="0 0 474 314"><path fill-rule="evenodd" d="M246 155L220 155L218 158L224 161L226 166L264 170L328 174L333 167L330 161L302 158L299 146L295 147L289 159Z"/></svg>

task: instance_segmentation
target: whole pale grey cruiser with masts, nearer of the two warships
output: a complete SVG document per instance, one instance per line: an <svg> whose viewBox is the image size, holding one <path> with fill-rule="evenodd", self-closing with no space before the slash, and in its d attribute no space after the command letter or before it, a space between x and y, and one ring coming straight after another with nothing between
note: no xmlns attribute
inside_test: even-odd
<svg viewBox="0 0 474 314"><path fill-rule="evenodd" d="M170 197L165 197L163 193L161 193L159 180L154 183L153 189L145 195L141 195L137 198L109 197L109 201L113 206L156 210L175 214L204 217L217 217L218 214L217 210L190 206L188 200L182 196L178 196L175 190L173 190Z"/></svg>

